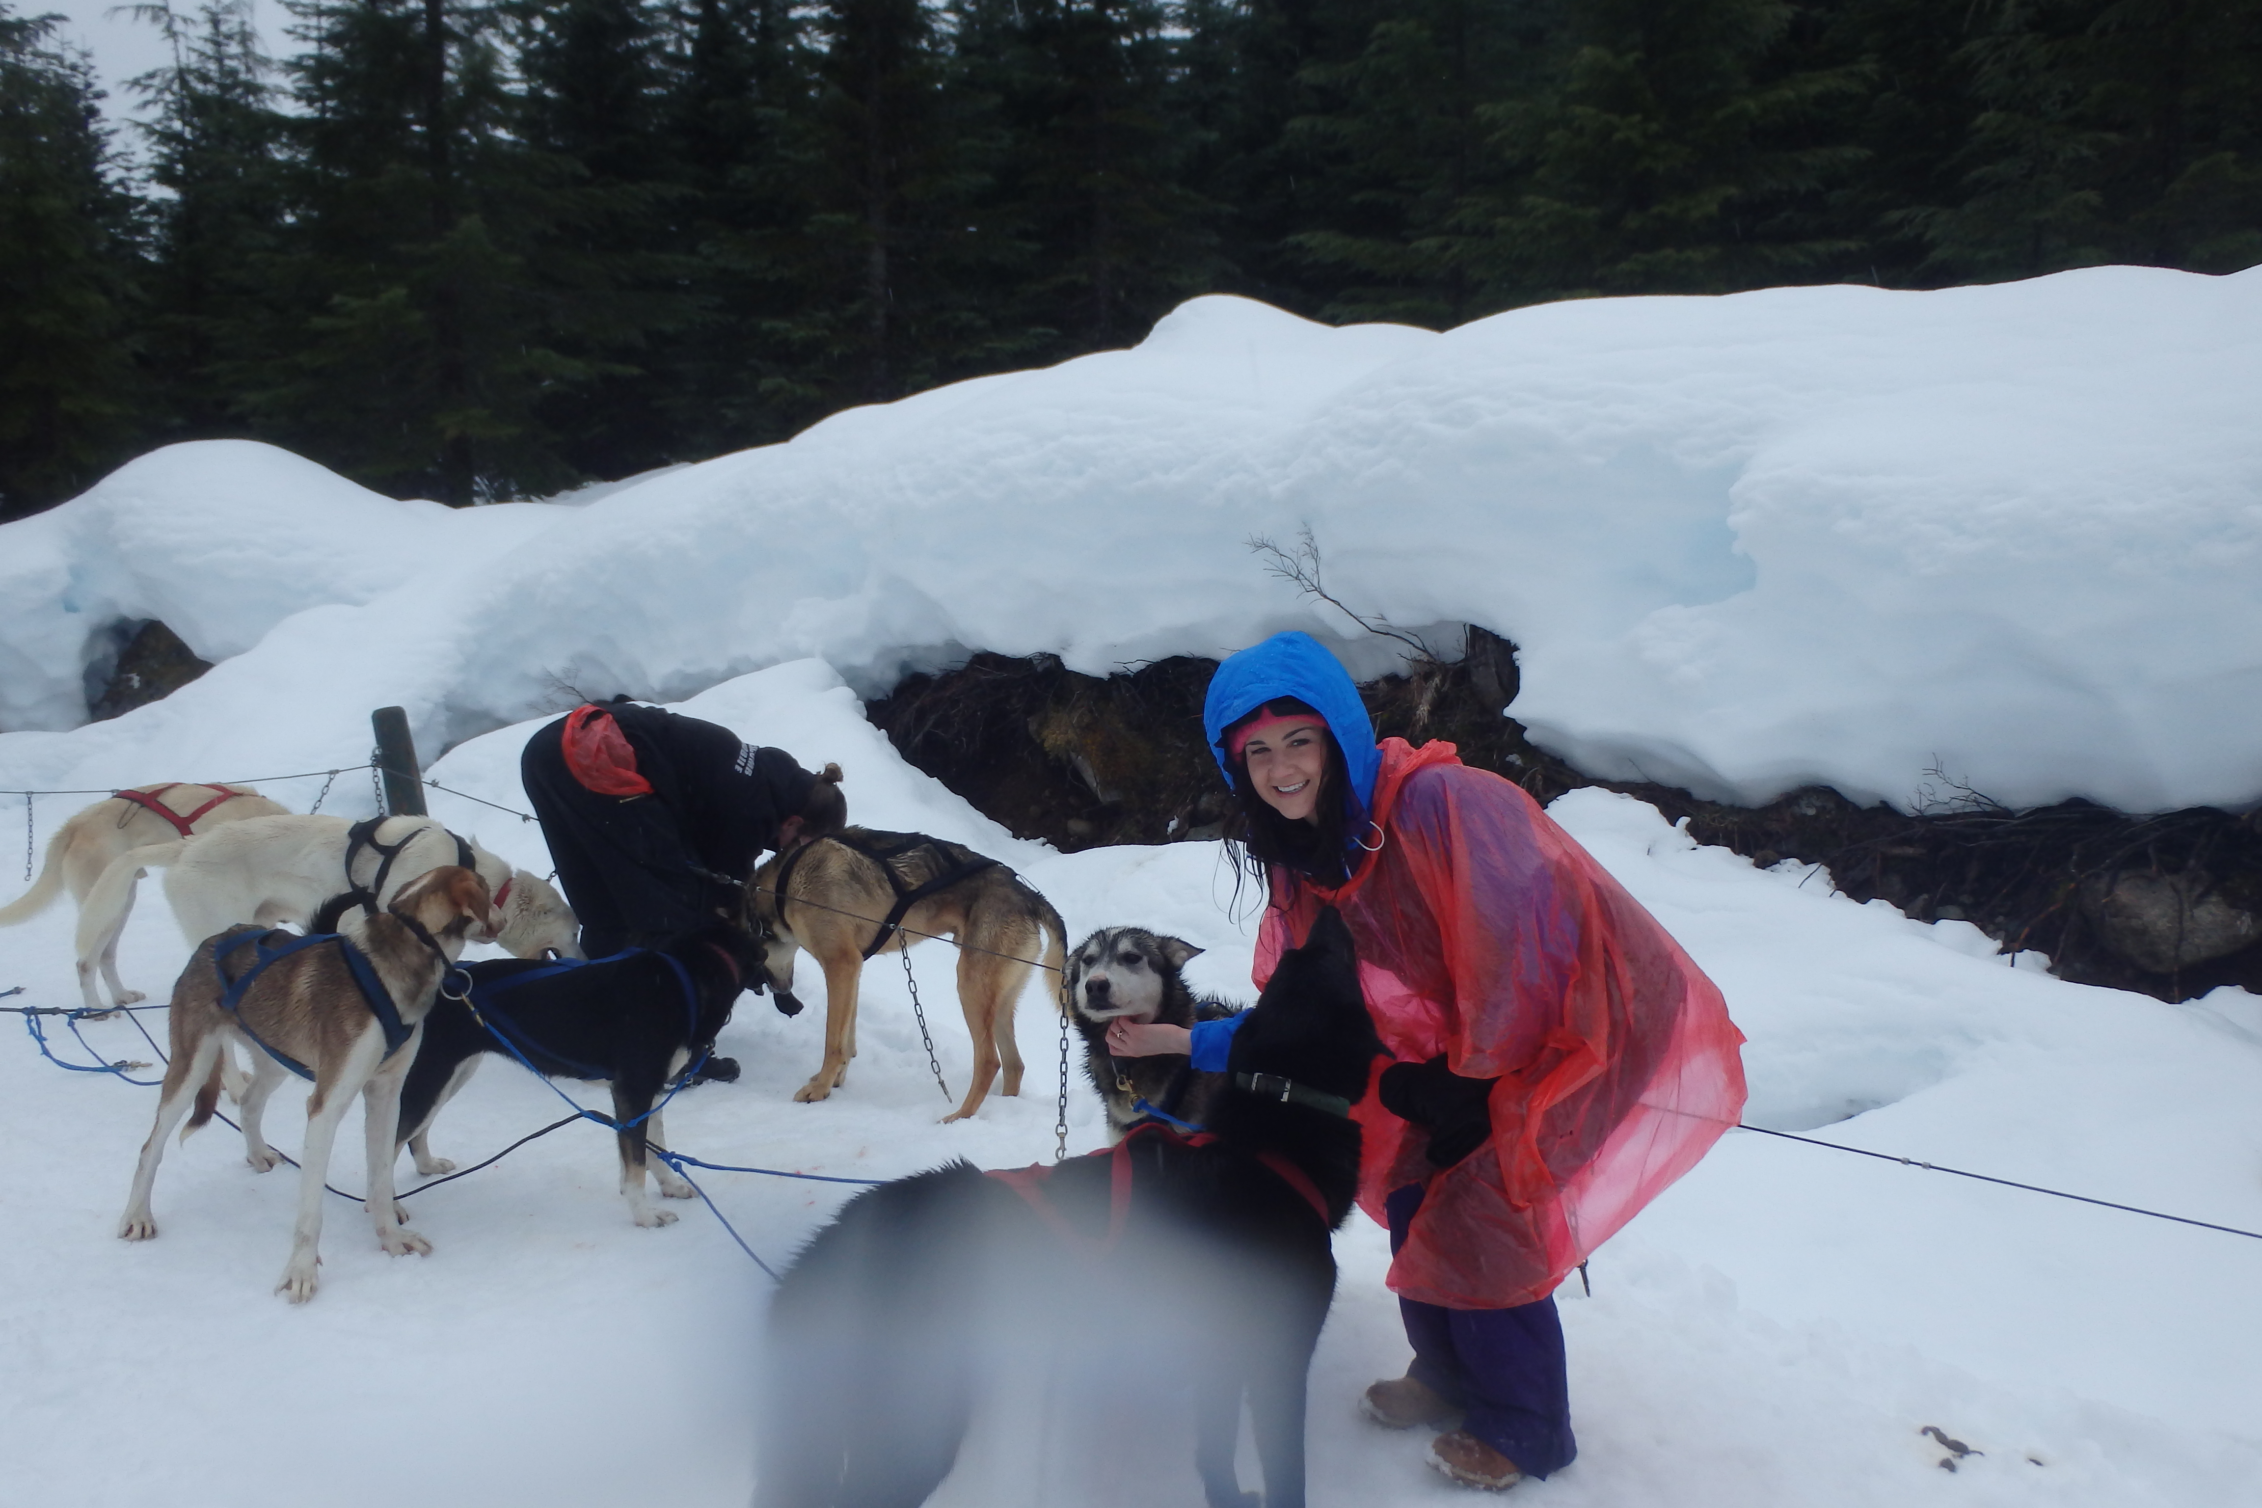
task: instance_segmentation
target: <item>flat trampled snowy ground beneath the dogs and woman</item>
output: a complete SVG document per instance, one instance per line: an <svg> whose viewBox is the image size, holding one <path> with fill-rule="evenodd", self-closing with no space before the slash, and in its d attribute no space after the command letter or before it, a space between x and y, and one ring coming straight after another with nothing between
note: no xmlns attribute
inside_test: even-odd
<svg viewBox="0 0 2262 1508"><path fill-rule="evenodd" d="M814 662L688 703L789 748L841 757L857 816L975 841L1022 866L1072 931L1145 922L1210 952L1201 986L1246 993L1249 938L1226 916L1212 846L1047 855L1013 843L887 751ZM520 805L525 728L443 760L446 785ZM443 798L446 803L446 798ZM538 864L532 827L470 803L439 814ZM2061 983L1991 956L1968 925L1916 925L1832 898L1821 875L1753 870L1656 812L1574 794L1556 816L1726 988L1751 1033L1751 1119L2099 1198L2262 1230L2262 1002L2190 1006ZM68 1004L68 907L0 934L23 999ZM147 886L122 954L161 986L185 956ZM961 1081L950 961L914 954L943 1072ZM710 1162L891 1176L946 1155L1007 1167L1052 1151L1056 1033L1031 990L1031 1081L959 1126L934 1087L891 961L866 986L862 1056L819 1106L792 1090L819 1051L810 1013L749 997L722 1047L746 1074L685 1094L672 1139ZM131 1026L90 1024L104 1056ZM68 1035L63 1047L75 1047ZM330 1201L323 1289L269 1293L292 1173L253 1176L215 1126L167 1155L163 1237L113 1228L152 1090L0 1051L0 1171L16 1232L0 1255L7 1503L439 1506L740 1503L767 1280L701 1210L636 1230L595 1128L568 1128L412 1201L428 1259L375 1250ZM532 1076L491 1063L441 1119L459 1162L559 1115ZM1850 1117L1850 1119L1848 1119ZM1074 1085L1070 1146L1099 1142ZM280 1108L271 1126L287 1128ZM278 1139L290 1144L290 1133ZM346 1139L351 1144L351 1137ZM357 1185L351 1151L339 1187ZM706 1187L771 1259L839 1185L715 1173ZM1405 1361L1382 1291L1382 1232L1337 1241L1341 1298L1312 1372L1316 1503L1450 1501L1421 1440L1355 1418L1357 1390ZM2239 1503L2262 1497L2262 1241L2070 1205L1844 1153L1730 1135L1563 1295L1581 1458L1534 1503ZM1025 1424L1025 1422L1022 1422ZM1927 1424L1984 1451L1950 1474ZM1013 1440L1020 1440L1013 1433ZM1036 1465L991 1440L941 1501L1194 1503L1190 1465Z"/></svg>

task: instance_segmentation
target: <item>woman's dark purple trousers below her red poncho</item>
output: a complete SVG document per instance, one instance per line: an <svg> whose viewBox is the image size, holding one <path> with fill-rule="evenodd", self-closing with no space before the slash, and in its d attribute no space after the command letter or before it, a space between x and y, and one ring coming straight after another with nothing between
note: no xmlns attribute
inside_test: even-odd
<svg viewBox="0 0 2262 1508"><path fill-rule="evenodd" d="M1407 1239L1421 1207L1421 1185L1384 1201L1391 1253ZM1525 1476L1561 1472L1579 1454L1570 1433L1570 1377L1563 1320L1552 1298L1513 1309L1445 1309L1398 1300L1411 1377L1464 1409L1461 1429L1506 1456Z"/></svg>

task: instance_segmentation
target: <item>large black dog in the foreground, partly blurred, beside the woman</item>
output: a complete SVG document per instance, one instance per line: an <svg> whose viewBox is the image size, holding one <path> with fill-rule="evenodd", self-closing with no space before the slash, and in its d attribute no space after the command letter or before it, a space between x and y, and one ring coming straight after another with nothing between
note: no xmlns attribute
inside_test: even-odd
<svg viewBox="0 0 2262 1508"><path fill-rule="evenodd" d="M756 1503L925 1501L986 1375L1054 1366L1068 1338L1050 1393L1077 1413L1190 1388L1210 1508L1258 1501L1233 1472L1246 1395L1262 1501L1303 1508L1328 1237L1359 1178L1348 1108L1378 1051L1350 931L1326 911L1233 1038L1242 1092L1212 1108L1210 1135L1149 1124L1056 1167L952 1162L853 1198L771 1300Z"/></svg>

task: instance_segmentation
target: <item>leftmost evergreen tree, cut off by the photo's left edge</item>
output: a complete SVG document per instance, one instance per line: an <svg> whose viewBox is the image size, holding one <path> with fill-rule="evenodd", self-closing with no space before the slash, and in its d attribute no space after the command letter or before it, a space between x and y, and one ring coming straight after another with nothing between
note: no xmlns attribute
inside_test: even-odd
<svg viewBox="0 0 2262 1508"><path fill-rule="evenodd" d="M54 23L0 0L0 518L122 461L136 398L133 203L102 90Z"/></svg>

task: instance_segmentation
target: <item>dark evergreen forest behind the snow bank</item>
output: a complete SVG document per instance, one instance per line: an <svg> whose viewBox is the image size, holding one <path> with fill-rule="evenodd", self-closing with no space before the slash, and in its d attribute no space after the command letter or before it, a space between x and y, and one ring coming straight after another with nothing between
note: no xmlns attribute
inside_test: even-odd
<svg viewBox="0 0 2262 1508"><path fill-rule="evenodd" d="M0 0L0 518L183 439L534 497L1197 294L2262 262L2262 0Z"/></svg>

